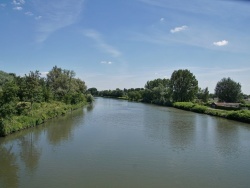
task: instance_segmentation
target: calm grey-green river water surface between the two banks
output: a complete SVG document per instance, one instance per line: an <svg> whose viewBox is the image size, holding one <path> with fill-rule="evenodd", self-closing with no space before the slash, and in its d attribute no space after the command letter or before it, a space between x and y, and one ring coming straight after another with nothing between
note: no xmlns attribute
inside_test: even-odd
<svg viewBox="0 0 250 188"><path fill-rule="evenodd" d="M0 187L250 187L250 125L97 98L0 138Z"/></svg>

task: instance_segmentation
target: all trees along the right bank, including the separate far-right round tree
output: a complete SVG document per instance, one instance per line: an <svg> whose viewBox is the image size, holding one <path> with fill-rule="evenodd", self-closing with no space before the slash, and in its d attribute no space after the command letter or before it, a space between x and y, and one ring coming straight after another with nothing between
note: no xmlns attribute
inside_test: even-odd
<svg viewBox="0 0 250 188"><path fill-rule="evenodd" d="M176 70L170 79L155 79L147 81L144 88L131 88L98 91L89 88L88 92L95 96L124 98L158 105L172 106L175 102L207 103L209 99L218 98L220 102L244 102L247 95L241 92L241 85L230 78L223 78L216 87L214 94L208 87L201 89L198 81L189 70Z"/></svg>

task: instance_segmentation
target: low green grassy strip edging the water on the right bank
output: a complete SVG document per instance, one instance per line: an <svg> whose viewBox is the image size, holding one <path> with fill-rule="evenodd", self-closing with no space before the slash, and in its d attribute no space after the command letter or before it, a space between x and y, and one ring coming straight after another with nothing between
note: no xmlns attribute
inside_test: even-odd
<svg viewBox="0 0 250 188"><path fill-rule="evenodd" d="M194 104L192 102L176 102L173 103L173 107L182 109L182 110L187 110L187 111L192 111L192 112L197 112L197 113L202 113L202 114L207 114L207 115L212 115L212 116L217 116L217 117L223 117L235 121L241 121L245 123L250 123L250 111L249 110L220 110L220 109L214 109L210 108L207 106L199 105L199 104Z"/></svg>

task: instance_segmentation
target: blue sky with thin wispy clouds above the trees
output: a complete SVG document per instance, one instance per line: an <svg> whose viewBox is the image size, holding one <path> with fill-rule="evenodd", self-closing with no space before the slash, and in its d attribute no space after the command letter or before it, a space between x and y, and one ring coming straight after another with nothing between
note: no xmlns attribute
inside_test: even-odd
<svg viewBox="0 0 250 188"><path fill-rule="evenodd" d="M54 66L98 90L188 69L201 89L230 77L250 94L250 1L0 0L0 70Z"/></svg>

